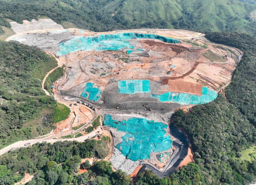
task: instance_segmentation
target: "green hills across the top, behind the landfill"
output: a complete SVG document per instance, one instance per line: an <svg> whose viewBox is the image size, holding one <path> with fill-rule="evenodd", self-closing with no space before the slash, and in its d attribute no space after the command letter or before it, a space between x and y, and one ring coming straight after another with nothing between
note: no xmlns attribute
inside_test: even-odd
<svg viewBox="0 0 256 185"><path fill-rule="evenodd" d="M255 9L254 3L238 0L0 0L0 17L22 23L47 16L64 27L92 31L182 28L256 35L250 14Z"/></svg>

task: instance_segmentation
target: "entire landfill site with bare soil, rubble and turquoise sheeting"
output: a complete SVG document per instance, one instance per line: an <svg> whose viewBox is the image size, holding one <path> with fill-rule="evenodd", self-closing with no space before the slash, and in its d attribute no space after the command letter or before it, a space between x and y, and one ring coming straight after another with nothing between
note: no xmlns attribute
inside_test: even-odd
<svg viewBox="0 0 256 185"><path fill-rule="evenodd" d="M46 26L40 28L40 22ZM193 160L188 159L186 135L170 118L175 110L189 111L224 94L242 56L236 48L187 30L96 33L64 29L47 20L11 26L22 31L10 40L37 46L65 65L65 76L54 83L53 96L94 110L74 108L74 114L82 116L71 115L58 129L69 130L67 122L76 119L79 125L95 113L100 115L113 139L112 166L132 176L145 169L168 176L182 161Z"/></svg>

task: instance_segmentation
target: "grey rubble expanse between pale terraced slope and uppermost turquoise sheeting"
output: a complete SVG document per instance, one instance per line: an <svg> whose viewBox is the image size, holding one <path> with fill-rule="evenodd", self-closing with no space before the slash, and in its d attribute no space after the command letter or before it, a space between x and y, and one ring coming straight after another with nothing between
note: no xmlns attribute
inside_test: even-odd
<svg viewBox="0 0 256 185"><path fill-rule="evenodd" d="M47 31L20 35L12 40L29 46L37 46L44 51L57 52L59 50L60 42L70 40L74 37L75 36L70 31L62 33Z"/></svg>

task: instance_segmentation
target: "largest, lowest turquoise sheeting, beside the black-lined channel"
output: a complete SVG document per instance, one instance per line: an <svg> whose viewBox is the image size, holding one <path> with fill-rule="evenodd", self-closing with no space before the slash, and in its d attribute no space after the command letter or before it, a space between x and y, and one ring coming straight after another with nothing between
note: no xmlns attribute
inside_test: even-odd
<svg viewBox="0 0 256 185"><path fill-rule="evenodd" d="M126 133L116 148L133 161L149 159L151 151L162 152L172 147L172 139L164 130L168 126L162 122L142 118L116 121L111 115L106 114L103 124Z"/></svg>

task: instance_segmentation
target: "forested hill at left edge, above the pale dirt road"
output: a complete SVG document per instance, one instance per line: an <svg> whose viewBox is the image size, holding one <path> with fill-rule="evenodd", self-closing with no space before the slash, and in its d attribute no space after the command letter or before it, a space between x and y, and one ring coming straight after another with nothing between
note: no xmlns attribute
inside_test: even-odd
<svg viewBox="0 0 256 185"><path fill-rule="evenodd" d="M45 95L41 83L56 66L39 48L0 42L0 148L53 129L59 106Z"/></svg>

